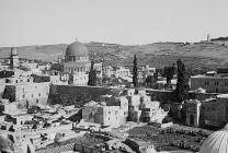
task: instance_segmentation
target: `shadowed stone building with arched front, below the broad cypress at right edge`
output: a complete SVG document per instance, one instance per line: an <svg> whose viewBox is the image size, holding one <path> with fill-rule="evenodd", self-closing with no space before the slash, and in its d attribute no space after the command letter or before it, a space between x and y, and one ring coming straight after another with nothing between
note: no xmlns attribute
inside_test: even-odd
<svg viewBox="0 0 228 153"><path fill-rule="evenodd" d="M192 99L185 104L186 123L189 126L224 126L228 121L228 95L220 94L216 98L202 102Z"/></svg>

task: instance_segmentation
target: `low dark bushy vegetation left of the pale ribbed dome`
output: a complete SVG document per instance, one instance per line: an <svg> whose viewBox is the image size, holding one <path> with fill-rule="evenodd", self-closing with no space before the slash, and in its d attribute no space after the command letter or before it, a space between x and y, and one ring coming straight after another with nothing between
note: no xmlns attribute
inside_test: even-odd
<svg viewBox="0 0 228 153"><path fill-rule="evenodd" d="M150 141L158 151L161 150L191 150L197 152L203 141L212 131L174 126L167 129L158 129L152 126L136 127L129 132L129 138Z"/></svg>

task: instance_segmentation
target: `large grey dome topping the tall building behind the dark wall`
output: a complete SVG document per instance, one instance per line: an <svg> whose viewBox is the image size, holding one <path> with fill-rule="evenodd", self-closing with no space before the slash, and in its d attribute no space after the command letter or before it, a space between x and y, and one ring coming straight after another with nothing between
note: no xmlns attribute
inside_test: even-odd
<svg viewBox="0 0 228 153"><path fill-rule="evenodd" d="M76 56L76 57L88 57L89 52L87 47L79 43L75 42L67 47L66 57Z"/></svg>

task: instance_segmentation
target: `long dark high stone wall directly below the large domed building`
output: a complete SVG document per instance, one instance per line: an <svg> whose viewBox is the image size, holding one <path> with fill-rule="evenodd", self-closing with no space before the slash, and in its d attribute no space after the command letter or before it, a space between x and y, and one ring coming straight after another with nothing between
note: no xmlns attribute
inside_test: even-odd
<svg viewBox="0 0 228 153"><path fill-rule="evenodd" d="M112 89L100 86L50 85L48 104L83 105L107 94Z"/></svg>

